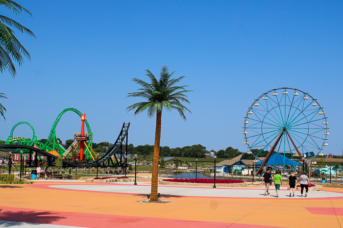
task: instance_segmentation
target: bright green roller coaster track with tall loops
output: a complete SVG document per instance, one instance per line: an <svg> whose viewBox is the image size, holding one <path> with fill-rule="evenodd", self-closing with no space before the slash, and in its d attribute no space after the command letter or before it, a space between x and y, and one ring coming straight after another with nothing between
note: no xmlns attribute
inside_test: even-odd
<svg viewBox="0 0 343 228"><path fill-rule="evenodd" d="M75 112L79 117L81 117L81 115L82 115L82 113L79 110L77 110L76 108L64 109L55 119L55 121L51 127L49 137L48 137L47 142L45 144L37 141L37 136L36 136L35 130L34 130L33 126L31 124L29 124L28 122L19 122L19 123L15 124L12 127L10 136L8 136L5 144L20 144L20 145L27 145L27 146L35 146L36 145L41 150L56 151L60 155L62 155L66 151L66 149L63 146L61 146L60 143L58 143L58 139L56 137L56 131L55 130L56 130L57 124L60 121L63 114L68 112L68 111ZM24 138L24 137L13 138L14 129L21 124L26 124L29 127L31 127L32 133L33 133L32 139L28 139L28 138ZM88 144L92 147L92 142L93 142L92 130L91 130L91 127L89 126L87 120L85 120L85 124L87 127L88 134L90 136L90 140L88 141ZM88 154L88 152L85 152L85 158L90 159L90 154Z"/></svg>

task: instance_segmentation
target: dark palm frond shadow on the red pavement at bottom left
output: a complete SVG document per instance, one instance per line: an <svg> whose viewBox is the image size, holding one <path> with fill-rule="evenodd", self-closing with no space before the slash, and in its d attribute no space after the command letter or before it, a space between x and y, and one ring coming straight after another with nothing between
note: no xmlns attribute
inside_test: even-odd
<svg viewBox="0 0 343 228"><path fill-rule="evenodd" d="M1 211L1 209L0 209ZM12 221L12 222L24 222L24 223L40 223L50 224L52 222L65 219L63 216L55 215L57 213L44 211L2 211L0 212L0 220ZM16 226L16 223L2 224L4 227ZM18 224L17 224L18 225Z"/></svg>

